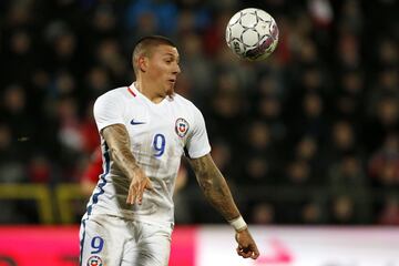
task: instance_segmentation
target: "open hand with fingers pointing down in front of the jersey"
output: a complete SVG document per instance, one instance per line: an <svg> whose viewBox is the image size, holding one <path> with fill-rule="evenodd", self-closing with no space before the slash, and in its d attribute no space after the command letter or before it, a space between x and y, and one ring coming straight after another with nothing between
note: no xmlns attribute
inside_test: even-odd
<svg viewBox="0 0 399 266"><path fill-rule="evenodd" d="M126 198L127 204L139 205L143 202L144 190L153 190L150 178L145 175L144 171L140 167L134 170L134 176L129 186L129 194Z"/></svg>

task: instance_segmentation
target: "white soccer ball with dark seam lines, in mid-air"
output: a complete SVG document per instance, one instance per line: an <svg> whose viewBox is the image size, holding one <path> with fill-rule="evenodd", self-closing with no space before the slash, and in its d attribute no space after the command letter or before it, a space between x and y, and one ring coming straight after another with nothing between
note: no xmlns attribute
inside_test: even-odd
<svg viewBox="0 0 399 266"><path fill-rule="evenodd" d="M242 59L264 60L277 47L277 23L262 9L243 9L228 21L226 42L229 49Z"/></svg>

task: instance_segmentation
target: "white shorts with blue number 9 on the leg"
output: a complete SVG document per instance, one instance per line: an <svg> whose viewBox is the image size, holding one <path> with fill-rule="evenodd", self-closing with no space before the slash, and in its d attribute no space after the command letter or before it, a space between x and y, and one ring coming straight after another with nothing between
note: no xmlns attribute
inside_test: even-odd
<svg viewBox="0 0 399 266"><path fill-rule="evenodd" d="M167 266L172 228L91 215L80 228L80 266Z"/></svg>

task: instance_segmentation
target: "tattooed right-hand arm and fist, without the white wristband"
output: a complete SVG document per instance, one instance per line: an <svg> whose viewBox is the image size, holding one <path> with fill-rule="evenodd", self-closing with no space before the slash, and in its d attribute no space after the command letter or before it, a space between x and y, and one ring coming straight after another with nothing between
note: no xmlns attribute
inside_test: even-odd
<svg viewBox="0 0 399 266"><path fill-rule="evenodd" d="M234 203L226 180L215 165L212 156L207 154L200 158L192 158L190 163L205 197L223 217L228 222L241 218L239 211ZM254 259L259 256L256 243L246 226L236 231L236 241L238 243L237 254L239 256L245 258L252 257Z"/></svg>

